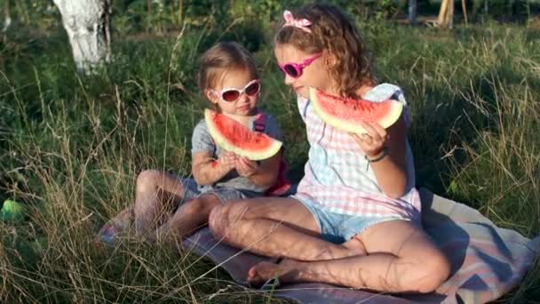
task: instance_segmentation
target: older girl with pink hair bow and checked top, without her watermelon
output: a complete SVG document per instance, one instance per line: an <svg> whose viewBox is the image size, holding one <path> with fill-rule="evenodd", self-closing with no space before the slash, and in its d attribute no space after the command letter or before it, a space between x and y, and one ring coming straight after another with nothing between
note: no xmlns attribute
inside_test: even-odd
<svg viewBox="0 0 540 304"><path fill-rule="evenodd" d="M274 54L285 84L298 95L310 144L305 177L289 198L256 198L210 213L218 238L285 258L250 268L251 284L322 282L380 292L432 292L449 261L421 227L405 111L383 129L361 124L349 134L315 114L308 88L364 100L400 100L401 89L377 84L353 23L330 5L284 13ZM279 280L279 281L278 281Z"/></svg>

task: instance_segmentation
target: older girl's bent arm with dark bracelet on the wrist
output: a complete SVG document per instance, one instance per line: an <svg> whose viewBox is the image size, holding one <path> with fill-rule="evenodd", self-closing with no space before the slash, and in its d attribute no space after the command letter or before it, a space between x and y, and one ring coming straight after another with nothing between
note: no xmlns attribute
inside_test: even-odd
<svg viewBox="0 0 540 304"><path fill-rule="evenodd" d="M386 196L399 198L407 191L407 126L403 116L387 130L378 124L366 124L369 137L353 134L353 138L364 150L366 157L376 160L369 165L375 173L377 184Z"/></svg>

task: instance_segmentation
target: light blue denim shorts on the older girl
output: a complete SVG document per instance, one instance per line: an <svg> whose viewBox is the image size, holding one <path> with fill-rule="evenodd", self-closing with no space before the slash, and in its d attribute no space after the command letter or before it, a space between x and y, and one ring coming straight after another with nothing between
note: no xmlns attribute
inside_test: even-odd
<svg viewBox="0 0 540 304"><path fill-rule="evenodd" d="M388 220L403 220L400 217L369 217L329 212L321 204L306 200L305 196L290 197L306 206L319 224L322 239L334 244L343 244L375 224Z"/></svg>

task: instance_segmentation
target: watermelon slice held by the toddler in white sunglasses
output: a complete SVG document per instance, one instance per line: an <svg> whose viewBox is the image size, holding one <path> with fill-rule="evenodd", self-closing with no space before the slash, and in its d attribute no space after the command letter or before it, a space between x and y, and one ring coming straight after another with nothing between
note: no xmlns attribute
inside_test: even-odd
<svg viewBox="0 0 540 304"><path fill-rule="evenodd" d="M265 133L251 131L233 118L208 108L204 110L204 121L210 136L219 147L250 160L272 157L282 148L281 141Z"/></svg>

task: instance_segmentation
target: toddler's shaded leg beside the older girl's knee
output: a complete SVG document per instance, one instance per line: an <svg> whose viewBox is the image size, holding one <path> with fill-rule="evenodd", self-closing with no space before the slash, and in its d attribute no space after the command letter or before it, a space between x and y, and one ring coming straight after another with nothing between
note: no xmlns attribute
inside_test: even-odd
<svg viewBox="0 0 540 304"><path fill-rule="evenodd" d="M210 211L220 204L218 196L212 194L192 199L179 206L170 220L155 231L156 238L180 242L184 237L208 223Z"/></svg>

